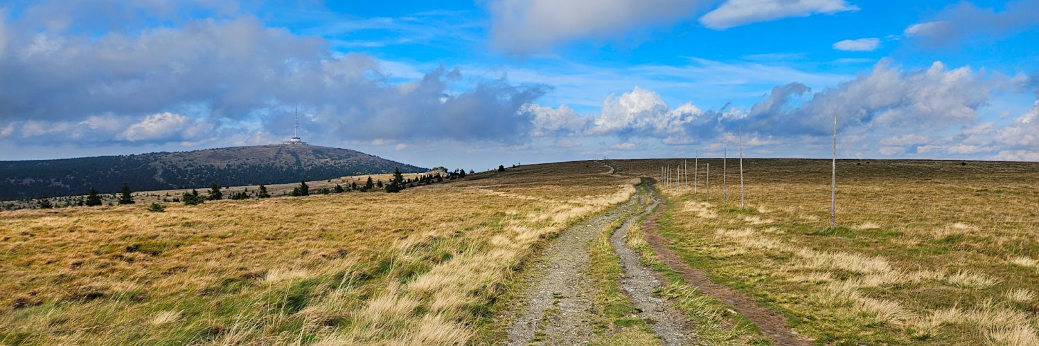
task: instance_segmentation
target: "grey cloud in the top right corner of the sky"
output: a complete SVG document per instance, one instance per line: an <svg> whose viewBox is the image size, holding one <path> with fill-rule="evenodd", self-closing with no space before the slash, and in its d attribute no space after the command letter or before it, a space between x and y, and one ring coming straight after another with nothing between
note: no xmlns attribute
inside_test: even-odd
<svg viewBox="0 0 1039 346"><path fill-rule="evenodd" d="M928 45L952 45L968 37L998 38L1039 24L1039 0L1007 3L1003 10L980 8L970 2L952 5L928 21L905 29L907 36Z"/></svg>

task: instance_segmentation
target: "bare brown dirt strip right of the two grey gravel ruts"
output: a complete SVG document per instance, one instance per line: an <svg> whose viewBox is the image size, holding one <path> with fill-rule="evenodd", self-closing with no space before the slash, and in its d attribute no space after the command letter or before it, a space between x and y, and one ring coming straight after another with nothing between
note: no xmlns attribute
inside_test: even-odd
<svg viewBox="0 0 1039 346"><path fill-rule="evenodd" d="M657 198L656 194L654 194L654 198ZM762 332L771 338L773 343L777 345L809 344L810 340L787 327L785 317L758 305L747 295L728 287L715 284L702 270L691 267L683 261L681 256L668 247L667 240L657 233L657 218L667 208L666 202L660 201L660 203L663 204L662 207L658 208L656 213L642 222L642 232L645 234L646 242L657 252L661 262L670 267L671 270L681 273L682 278L685 280L687 285L695 287L704 294L714 296L718 300L731 305L734 310L743 316L746 316L747 319L754 322L762 329Z"/></svg>

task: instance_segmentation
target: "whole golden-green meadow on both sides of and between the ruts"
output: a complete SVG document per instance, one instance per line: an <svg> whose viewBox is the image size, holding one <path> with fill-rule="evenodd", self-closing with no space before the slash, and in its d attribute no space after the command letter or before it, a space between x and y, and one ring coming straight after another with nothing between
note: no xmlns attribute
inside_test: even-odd
<svg viewBox="0 0 1039 346"><path fill-rule="evenodd" d="M0 344L500 342L539 248L678 162L523 165L401 193L162 213L141 203L2 211ZM735 159L724 203L721 160L699 164L695 195L692 172L689 190L656 184L647 232L814 343L1039 344L1039 164L840 160L836 228L828 160L746 159L745 208ZM353 179L366 178L342 181ZM618 224L590 245L595 332L655 343L652 321L633 318L619 288ZM633 228L628 245L665 275L660 296L694 322L698 344L769 343L725 299L662 266L643 237Z"/></svg>

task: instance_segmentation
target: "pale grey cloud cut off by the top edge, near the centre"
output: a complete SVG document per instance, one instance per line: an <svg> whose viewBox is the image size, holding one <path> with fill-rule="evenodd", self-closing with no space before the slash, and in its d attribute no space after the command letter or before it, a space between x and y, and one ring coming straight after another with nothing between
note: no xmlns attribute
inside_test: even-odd
<svg viewBox="0 0 1039 346"><path fill-rule="evenodd" d="M543 51L584 37L609 37L644 25L687 18L696 0L495 0L488 4L494 46L510 53Z"/></svg>

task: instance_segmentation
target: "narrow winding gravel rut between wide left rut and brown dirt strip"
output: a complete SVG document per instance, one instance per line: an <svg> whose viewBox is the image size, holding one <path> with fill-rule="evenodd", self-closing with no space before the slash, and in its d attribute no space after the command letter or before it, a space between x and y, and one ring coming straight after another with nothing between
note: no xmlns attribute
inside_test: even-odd
<svg viewBox="0 0 1039 346"><path fill-rule="evenodd" d="M639 185L639 195L646 193L644 186ZM624 271L624 277L621 278L620 285L628 297L632 299L635 308L641 311L639 317L656 321L656 323L650 324L650 328L660 336L664 345L688 344L690 338L683 331L682 314L673 311L664 299L652 296L654 291L662 286L662 277L652 269L643 266L639 262L639 254L629 248L625 243L628 230L638 221L639 217L652 212L659 204L657 198L652 201L652 204L646 206L641 214L628 219L623 225L614 231L613 235L610 236L610 243L617 257L620 258L620 265Z"/></svg>

